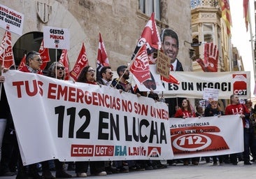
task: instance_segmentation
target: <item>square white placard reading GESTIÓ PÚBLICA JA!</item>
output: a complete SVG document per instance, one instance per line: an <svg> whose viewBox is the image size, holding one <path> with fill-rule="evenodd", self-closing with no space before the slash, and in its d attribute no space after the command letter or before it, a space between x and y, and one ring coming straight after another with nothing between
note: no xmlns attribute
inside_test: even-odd
<svg viewBox="0 0 256 179"><path fill-rule="evenodd" d="M69 50L70 34L69 29L58 27L43 27L44 48Z"/></svg>

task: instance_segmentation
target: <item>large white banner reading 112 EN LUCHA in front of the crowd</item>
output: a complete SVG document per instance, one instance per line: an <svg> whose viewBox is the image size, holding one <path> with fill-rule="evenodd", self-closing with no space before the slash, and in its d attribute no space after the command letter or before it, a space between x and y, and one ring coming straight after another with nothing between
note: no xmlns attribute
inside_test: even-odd
<svg viewBox="0 0 256 179"><path fill-rule="evenodd" d="M4 76L25 165L173 157L165 103L34 73Z"/></svg>

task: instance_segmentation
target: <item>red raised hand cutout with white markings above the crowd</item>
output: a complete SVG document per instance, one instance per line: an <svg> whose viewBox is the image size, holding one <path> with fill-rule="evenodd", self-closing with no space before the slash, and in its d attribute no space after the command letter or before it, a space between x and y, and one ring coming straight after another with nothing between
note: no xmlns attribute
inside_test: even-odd
<svg viewBox="0 0 256 179"><path fill-rule="evenodd" d="M217 72L218 71L218 59L219 50L213 43L206 43L204 45L204 61L197 59L197 62L201 66L201 69L205 72Z"/></svg>

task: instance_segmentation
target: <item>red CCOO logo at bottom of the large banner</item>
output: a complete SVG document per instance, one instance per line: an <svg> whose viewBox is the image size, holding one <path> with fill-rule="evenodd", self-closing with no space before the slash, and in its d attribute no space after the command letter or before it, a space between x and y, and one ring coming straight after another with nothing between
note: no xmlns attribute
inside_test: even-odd
<svg viewBox="0 0 256 179"><path fill-rule="evenodd" d="M94 145L71 145L71 157L92 157Z"/></svg>

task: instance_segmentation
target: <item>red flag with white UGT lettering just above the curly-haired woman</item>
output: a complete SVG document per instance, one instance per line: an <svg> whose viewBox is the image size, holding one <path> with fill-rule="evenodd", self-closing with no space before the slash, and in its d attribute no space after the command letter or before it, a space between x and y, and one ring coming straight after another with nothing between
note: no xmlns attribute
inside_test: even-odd
<svg viewBox="0 0 256 179"><path fill-rule="evenodd" d="M85 45L83 43L80 53L78 55L78 59L76 60L76 64L73 66L73 70L70 72L70 76L76 81L78 80L78 76L82 71L83 67L88 65L87 54L85 51Z"/></svg>

